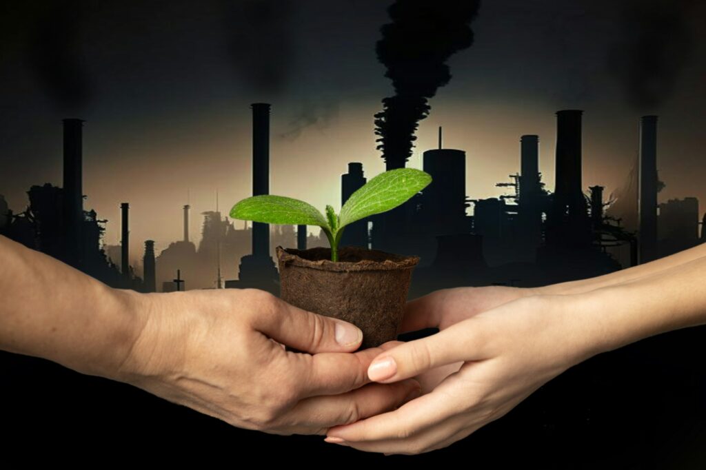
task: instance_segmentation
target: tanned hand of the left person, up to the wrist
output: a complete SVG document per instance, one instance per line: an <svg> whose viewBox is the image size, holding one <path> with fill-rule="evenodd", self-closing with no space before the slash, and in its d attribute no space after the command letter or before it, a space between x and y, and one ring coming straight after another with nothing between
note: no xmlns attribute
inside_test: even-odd
<svg viewBox="0 0 706 470"><path fill-rule="evenodd" d="M372 359L394 344L350 354L361 344L357 327L265 291L124 292L143 325L112 378L233 426L323 435L419 390L414 380L369 383Z"/></svg>

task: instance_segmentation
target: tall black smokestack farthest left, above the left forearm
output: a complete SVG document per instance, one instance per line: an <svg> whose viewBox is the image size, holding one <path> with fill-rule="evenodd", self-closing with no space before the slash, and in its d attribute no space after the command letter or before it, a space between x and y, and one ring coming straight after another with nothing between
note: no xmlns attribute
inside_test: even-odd
<svg viewBox="0 0 706 470"><path fill-rule="evenodd" d="M66 261L80 266L83 241L83 119L64 119L64 222Z"/></svg>

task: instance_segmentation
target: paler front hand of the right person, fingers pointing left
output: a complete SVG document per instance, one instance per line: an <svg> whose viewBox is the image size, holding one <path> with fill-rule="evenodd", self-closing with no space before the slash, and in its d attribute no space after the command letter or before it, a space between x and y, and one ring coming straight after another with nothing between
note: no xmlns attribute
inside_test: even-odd
<svg viewBox="0 0 706 470"><path fill-rule="evenodd" d="M457 291L419 301L447 325ZM448 302L445 301L448 295ZM435 302L427 303L431 300ZM326 440L369 452L419 454L448 446L504 416L541 385L594 354L582 335L582 296L530 296L380 354L368 373L382 383L460 363L433 391L395 411L330 428ZM453 307L451 307L453 306Z"/></svg>

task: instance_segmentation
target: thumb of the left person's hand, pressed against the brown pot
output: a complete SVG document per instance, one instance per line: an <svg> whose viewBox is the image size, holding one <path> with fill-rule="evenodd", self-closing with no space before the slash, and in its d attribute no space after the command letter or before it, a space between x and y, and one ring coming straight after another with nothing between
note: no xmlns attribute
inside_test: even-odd
<svg viewBox="0 0 706 470"><path fill-rule="evenodd" d="M303 310L277 296L263 311L253 320L256 330L299 351L352 352L363 341L363 332L352 323Z"/></svg>

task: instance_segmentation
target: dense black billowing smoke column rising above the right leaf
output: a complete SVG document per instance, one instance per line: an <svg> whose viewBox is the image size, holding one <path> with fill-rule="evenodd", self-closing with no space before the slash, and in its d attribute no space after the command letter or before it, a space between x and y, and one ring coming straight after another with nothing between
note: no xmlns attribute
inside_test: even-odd
<svg viewBox="0 0 706 470"><path fill-rule="evenodd" d="M451 79L445 61L473 42L470 23L479 5L479 0L397 0L388 8L392 23L381 28L376 52L395 96L383 98L383 111L375 115L377 148L387 169L404 167L412 155L414 132L429 115L427 100Z"/></svg>

